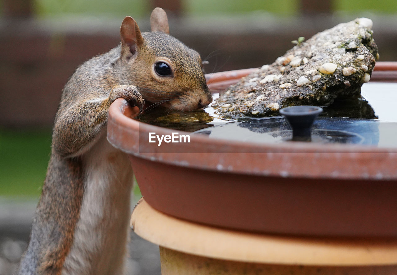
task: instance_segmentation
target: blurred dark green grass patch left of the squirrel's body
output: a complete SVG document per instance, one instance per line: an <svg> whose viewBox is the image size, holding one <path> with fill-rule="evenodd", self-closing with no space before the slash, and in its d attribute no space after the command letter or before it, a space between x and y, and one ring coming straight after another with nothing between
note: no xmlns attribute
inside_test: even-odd
<svg viewBox="0 0 397 275"><path fill-rule="evenodd" d="M39 197L50 146L51 130L0 130L0 196Z"/></svg>

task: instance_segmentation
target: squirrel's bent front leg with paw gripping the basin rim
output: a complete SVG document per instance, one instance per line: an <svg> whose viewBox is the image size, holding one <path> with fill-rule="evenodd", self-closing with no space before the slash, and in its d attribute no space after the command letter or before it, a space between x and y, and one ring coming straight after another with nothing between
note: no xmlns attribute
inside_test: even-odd
<svg viewBox="0 0 397 275"><path fill-rule="evenodd" d="M118 98L143 109L145 100L133 85L116 85L108 97L80 101L68 108L60 107L52 147L62 157L76 157L87 151L108 121L110 105Z"/></svg>

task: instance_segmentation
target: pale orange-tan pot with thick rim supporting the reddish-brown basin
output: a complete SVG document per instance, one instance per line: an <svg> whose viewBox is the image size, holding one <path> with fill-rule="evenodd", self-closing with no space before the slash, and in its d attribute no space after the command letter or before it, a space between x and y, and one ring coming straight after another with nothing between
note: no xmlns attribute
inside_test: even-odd
<svg viewBox="0 0 397 275"><path fill-rule="evenodd" d="M162 275L395 275L395 238L309 238L239 232L165 215L141 199L131 227L160 246Z"/></svg>

